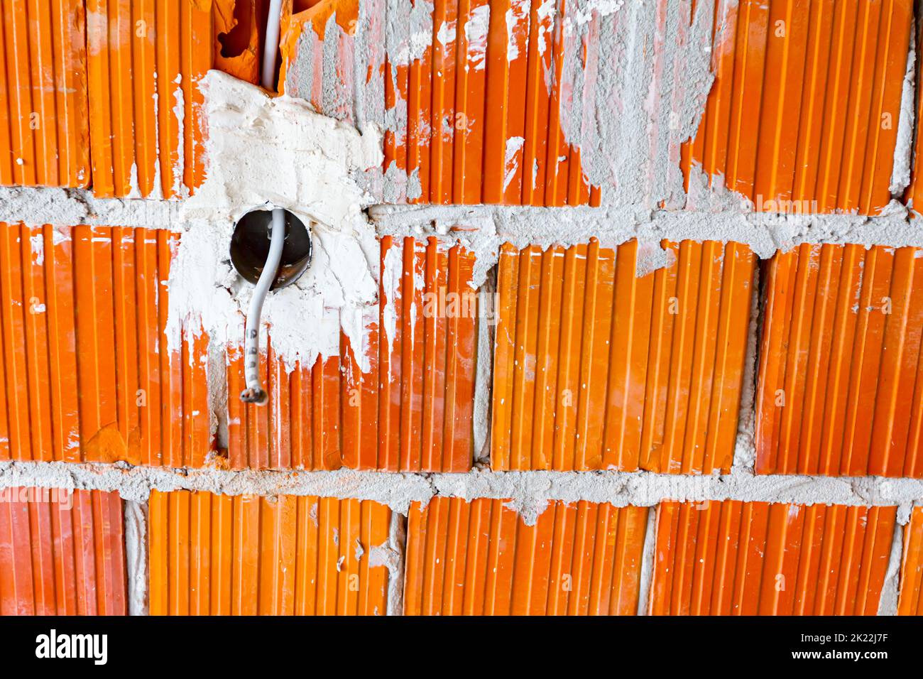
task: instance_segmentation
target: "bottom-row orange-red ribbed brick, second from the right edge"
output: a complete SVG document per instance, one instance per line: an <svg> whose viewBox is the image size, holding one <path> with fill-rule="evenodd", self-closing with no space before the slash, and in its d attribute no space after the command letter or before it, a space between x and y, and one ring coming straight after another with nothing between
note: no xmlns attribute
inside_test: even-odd
<svg viewBox="0 0 923 679"><path fill-rule="evenodd" d="M661 503L653 615L875 615L896 507Z"/></svg>

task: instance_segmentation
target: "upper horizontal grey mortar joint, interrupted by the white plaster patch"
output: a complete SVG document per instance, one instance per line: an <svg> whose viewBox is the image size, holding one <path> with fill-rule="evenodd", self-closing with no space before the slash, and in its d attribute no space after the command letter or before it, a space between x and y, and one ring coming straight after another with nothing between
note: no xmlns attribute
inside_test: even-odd
<svg viewBox="0 0 923 679"><path fill-rule="evenodd" d="M0 221L25 224L111 225L182 232L185 200L98 199L86 189L0 188ZM216 210L219 210L216 207ZM200 209L199 209L200 212ZM923 247L923 229L911 226L905 206L893 201L879 215L780 214L736 205L715 211L622 207L519 205L373 205L378 236L438 236L470 240L475 249L570 244L598 238L616 246L632 238L719 240L749 245L761 258L800 243L856 243ZM553 215L553 217L549 217Z"/></svg>

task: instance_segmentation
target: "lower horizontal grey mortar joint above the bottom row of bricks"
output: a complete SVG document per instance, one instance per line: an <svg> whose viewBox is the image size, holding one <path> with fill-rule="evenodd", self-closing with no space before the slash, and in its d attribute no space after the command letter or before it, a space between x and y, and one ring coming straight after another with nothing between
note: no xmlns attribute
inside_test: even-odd
<svg viewBox="0 0 923 679"><path fill-rule="evenodd" d="M406 514L410 503L434 495L504 499L527 518L552 501L653 506L665 500L739 500L797 504L900 505L902 514L923 502L923 479L883 477L754 476L732 470L725 476L677 476L620 471L490 471L462 474L386 471L175 469L124 463L2 462L0 488L118 491L144 502L151 490L211 491L226 495L319 495L372 500Z"/></svg>

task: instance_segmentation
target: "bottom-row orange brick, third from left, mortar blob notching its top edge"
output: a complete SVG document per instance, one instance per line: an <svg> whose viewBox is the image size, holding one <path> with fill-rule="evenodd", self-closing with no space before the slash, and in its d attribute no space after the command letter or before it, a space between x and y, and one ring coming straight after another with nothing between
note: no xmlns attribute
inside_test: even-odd
<svg viewBox="0 0 923 679"><path fill-rule="evenodd" d="M413 503L405 615L633 615L645 507L550 503L534 526L503 500Z"/></svg>

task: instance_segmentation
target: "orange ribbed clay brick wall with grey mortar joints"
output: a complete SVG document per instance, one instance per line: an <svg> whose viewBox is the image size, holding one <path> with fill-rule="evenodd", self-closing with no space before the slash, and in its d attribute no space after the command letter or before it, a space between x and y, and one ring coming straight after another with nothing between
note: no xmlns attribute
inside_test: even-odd
<svg viewBox="0 0 923 679"><path fill-rule="evenodd" d="M263 3L0 0L0 203L46 217L0 208L0 612L923 611L914 5L652 7L710 50L685 138L665 44L605 90L629 8L283 3L281 89L383 129L398 268L361 347L293 370L270 329L260 407L240 344L167 336L176 224L42 201L194 194ZM649 116L637 195L597 92Z"/></svg>

